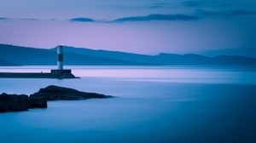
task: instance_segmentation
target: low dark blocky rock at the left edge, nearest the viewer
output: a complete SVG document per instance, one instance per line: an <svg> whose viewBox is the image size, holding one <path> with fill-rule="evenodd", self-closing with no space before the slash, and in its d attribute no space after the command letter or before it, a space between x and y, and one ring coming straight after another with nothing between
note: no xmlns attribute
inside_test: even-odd
<svg viewBox="0 0 256 143"><path fill-rule="evenodd" d="M0 112L23 112L35 107L46 108L47 100L33 99L26 94L0 94Z"/></svg>

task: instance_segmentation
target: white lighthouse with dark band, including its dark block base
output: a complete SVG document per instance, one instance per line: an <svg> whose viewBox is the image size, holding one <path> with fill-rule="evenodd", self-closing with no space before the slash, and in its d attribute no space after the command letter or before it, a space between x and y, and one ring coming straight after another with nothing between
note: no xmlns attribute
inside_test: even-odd
<svg viewBox="0 0 256 143"><path fill-rule="evenodd" d="M63 68L63 60L64 60L63 49L64 49L64 46L62 45L57 46L57 69L50 71L51 77L73 78L74 76L71 70Z"/></svg>

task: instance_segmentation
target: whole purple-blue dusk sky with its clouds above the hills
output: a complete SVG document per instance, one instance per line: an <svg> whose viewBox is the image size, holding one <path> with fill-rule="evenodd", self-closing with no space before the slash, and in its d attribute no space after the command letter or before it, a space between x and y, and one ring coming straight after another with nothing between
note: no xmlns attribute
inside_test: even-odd
<svg viewBox="0 0 256 143"><path fill-rule="evenodd" d="M0 43L43 49L256 49L255 26L255 0L0 0Z"/></svg>

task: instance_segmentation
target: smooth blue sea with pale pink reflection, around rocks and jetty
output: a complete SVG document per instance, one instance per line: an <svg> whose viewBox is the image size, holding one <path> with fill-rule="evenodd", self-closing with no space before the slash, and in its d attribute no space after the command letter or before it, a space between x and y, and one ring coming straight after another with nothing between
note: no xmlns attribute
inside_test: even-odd
<svg viewBox="0 0 256 143"><path fill-rule="evenodd" d="M110 99L0 113L0 143L255 143L256 66L66 66L80 78L0 78L0 94L49 85ZM49 72L55 66L0 66Z"/></svg>

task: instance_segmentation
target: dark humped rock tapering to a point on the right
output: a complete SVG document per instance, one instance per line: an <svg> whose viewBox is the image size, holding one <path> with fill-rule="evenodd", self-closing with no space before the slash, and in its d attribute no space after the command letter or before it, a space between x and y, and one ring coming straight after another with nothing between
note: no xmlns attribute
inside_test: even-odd
<svg viewBox="0 0 256 143"><path fill-rule="evenodd" d="M47 100L87 100L91 98L110 98L113 96L96 93L86 93L76 89L62 88L50 85L44 89L39 89L37 93L31 94L30 97L45 97Z"/></svg>

